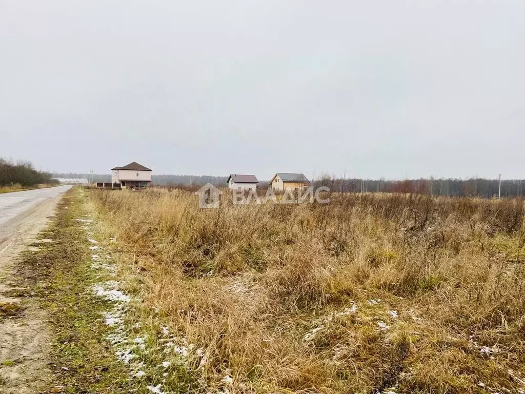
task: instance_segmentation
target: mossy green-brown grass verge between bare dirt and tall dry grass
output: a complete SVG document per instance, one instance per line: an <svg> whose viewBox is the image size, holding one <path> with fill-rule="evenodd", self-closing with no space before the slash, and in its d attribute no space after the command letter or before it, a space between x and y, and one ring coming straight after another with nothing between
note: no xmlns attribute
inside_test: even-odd
<svg viewBox="0 0 525 394"><path fill-rule="evenodd" d="M34 295L29 303L47 317L47 368L39 374L47 369L50 376L40 385L41 392L129 392L129 373L103 340L108 326L102 313L108 302L93 294L93 285L104 278L91 267L89 217L86 193L71 189L39 234L40 242L32 244L17 265L18 282Z"/></svg>

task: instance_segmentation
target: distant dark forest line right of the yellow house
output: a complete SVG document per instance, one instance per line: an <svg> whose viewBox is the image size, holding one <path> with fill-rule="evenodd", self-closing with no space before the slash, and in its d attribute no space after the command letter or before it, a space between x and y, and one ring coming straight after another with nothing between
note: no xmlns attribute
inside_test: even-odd
<svg viewBox="0 0 525 394"><path fill-rule="evenodd" d="M313 182L314 186L328 186L332 192L354 192L363 190L367 193L416 193L436 196L482 197L492 198L499 194L498 179L406 179L406 180L371 180L344 179L322 176ZM525 180L502 180L502 197L525 196Z"/></svg>

